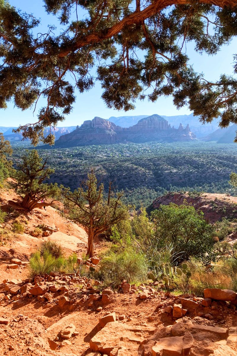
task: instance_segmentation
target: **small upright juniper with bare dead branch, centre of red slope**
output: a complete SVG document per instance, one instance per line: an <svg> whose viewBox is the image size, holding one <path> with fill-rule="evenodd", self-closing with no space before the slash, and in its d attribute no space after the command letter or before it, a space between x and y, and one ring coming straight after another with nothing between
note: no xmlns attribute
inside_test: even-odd
<svg viewBox="0 0 237 356"><path fill-rule="evenodd" d="M88 229L87 255L93 257L94 241L103 232L121 220L128 218L128 208L122 203L122 193L114 193L109 183L107 199L104 197L104 185L98 185L93 169L82 181L78 189L71 192L62 188L67 216Z"/></svg>

